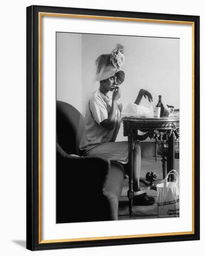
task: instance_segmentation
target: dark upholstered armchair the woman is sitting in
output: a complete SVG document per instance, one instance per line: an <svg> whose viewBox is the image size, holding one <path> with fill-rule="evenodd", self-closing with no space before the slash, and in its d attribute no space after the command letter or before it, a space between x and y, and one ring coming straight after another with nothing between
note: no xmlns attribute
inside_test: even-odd
<svg viewBox="0 0 205 256"><path fill-rule="evenodd" d="M57 223L118 219L123 165L102 157L79 157L84 118L76 108L57 101Z"/></svg>

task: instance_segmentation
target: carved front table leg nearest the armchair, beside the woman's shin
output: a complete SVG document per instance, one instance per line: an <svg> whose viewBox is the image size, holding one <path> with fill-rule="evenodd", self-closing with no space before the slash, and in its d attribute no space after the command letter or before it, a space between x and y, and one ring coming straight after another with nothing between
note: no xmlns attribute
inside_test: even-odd
<svg viewBox="0 0 205 256"><path fill-rule="evenodd" d="M128 158L129 158L129 215L132 215L132 202L134 197L133 191L133 136L128 135Z"/></svg>

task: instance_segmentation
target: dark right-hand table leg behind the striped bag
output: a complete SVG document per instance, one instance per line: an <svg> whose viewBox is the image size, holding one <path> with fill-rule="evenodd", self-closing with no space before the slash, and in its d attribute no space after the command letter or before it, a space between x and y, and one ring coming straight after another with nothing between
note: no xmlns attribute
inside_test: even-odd
<svg viewBox="0 0 205 256"><path fill-rule="evenodd" d="M174 169L174 147L175 147L175 135L172 132L171 136L168 139L168 155L167 155L167 172ZM171 178L171 182L173 181L173 175L169 176L169 180Z"/></svg>

